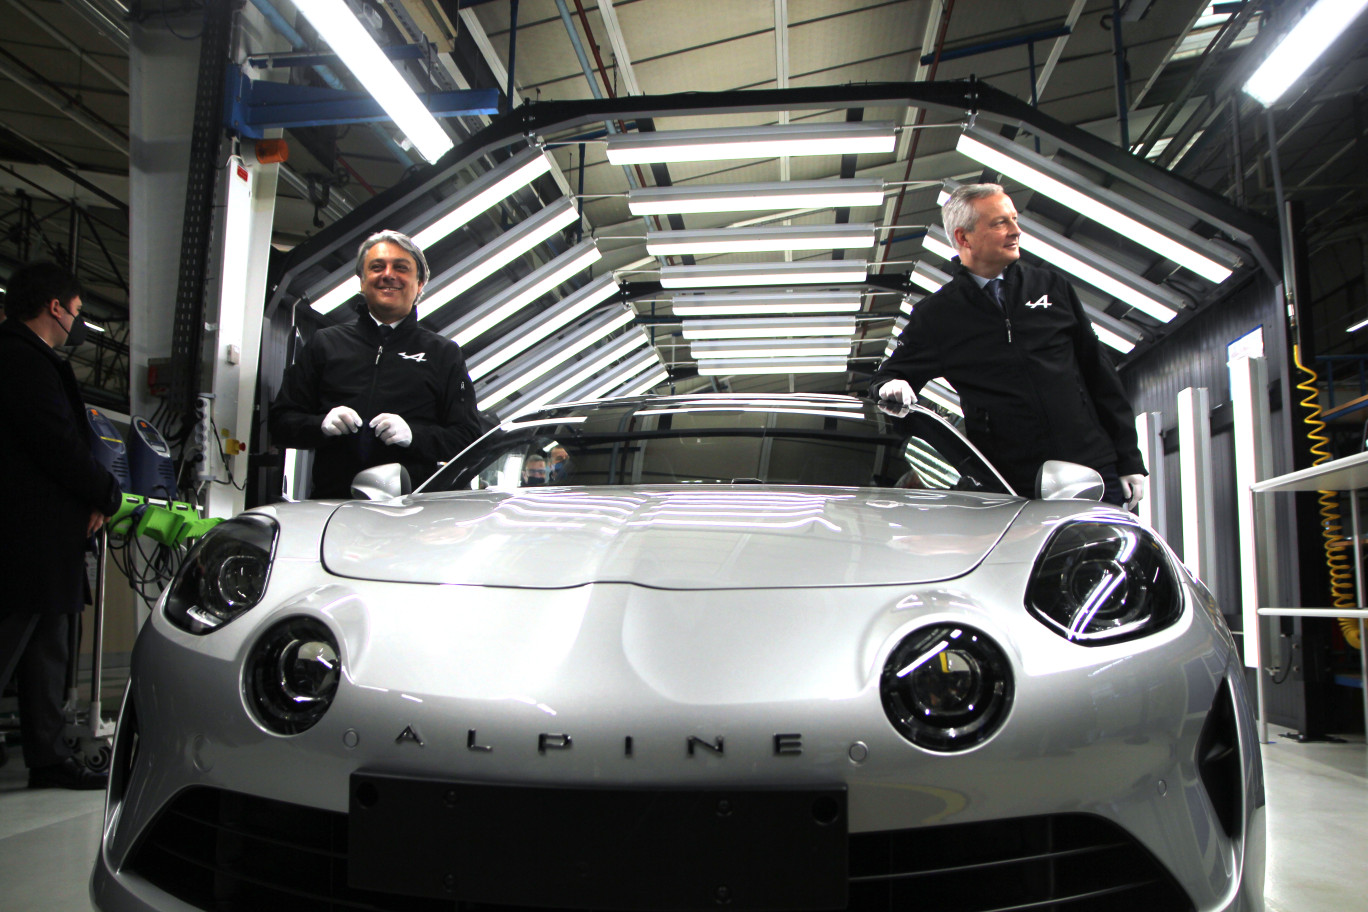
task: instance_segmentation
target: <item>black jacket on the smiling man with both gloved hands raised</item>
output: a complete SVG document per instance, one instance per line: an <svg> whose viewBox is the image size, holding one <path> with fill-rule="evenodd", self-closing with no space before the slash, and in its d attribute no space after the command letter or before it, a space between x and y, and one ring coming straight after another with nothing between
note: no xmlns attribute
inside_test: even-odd
<svg viewBox="0 0 1368 912"><path fill-rule="evenodd" d="M364 425L357 433L326 436L323 418L339 405L356 409ZM369 423L383 412L409 424L412 444L376 439ZM357 472L386 462L402 464L420 484L486 425L458 345L409 313L382 346L380 328L361 305L352 323L319 330L286 369L268 427L272 442L315 450L311 496L347 498Z"/></svg>

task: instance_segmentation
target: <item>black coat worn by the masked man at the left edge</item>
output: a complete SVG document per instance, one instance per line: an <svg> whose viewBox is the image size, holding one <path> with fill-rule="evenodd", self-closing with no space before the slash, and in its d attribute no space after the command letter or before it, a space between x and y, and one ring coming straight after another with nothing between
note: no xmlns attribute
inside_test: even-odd
<svg viewBox="0 0 1368 912"><path fill-rule="evenodd" d="M0 324L0 615L85 607L86 525L120 498L92 439L71 365L19 320Z"/></svg>

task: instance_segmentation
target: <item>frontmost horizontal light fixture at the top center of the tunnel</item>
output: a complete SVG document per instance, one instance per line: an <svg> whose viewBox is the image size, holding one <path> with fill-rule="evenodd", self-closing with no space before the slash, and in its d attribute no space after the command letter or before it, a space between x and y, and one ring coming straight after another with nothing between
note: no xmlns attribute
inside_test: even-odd
<svg viewBox="0 0 1368 912"><path fill-rule="evenodd" d="M607 138L613 164L654 161L717 161L808 155L892 152L893 123L781 123L765 127L618 133Z"/></svg>

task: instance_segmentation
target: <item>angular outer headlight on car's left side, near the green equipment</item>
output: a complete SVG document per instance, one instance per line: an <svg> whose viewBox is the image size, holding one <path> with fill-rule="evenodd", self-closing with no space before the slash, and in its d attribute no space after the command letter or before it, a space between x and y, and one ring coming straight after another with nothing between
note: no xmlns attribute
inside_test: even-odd
<svg viewBox="0 0 1368 912"><path fill-rule="evenodd" d="M253 607L265 593L278 535L274 520L250 513L213 526L171 581L167 618L204 634Z"/></svg>

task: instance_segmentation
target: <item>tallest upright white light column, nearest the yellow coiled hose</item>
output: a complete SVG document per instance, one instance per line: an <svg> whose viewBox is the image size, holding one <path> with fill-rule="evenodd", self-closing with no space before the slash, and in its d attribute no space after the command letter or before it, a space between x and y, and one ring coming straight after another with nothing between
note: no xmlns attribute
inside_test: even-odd
<svg viewBox="0 0 1368 912"><path fill-rule="evenodd" d="M1268 439L1268 362L1264 358L1235 358L1230 371L1230 405L1235 442L1235 506L1239 532L1241 617L1245 632L1245 667L1260 665L1263 628L1259 608L1272 604L1278 591L1278 561L1274 555L1272 505L1256 498L1249 485L1272 476L1272 443ZM1265 555L1263 563L1259 555Z"/></svg>

